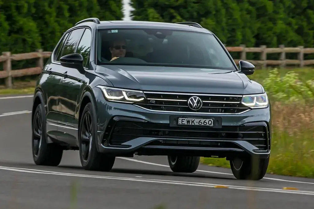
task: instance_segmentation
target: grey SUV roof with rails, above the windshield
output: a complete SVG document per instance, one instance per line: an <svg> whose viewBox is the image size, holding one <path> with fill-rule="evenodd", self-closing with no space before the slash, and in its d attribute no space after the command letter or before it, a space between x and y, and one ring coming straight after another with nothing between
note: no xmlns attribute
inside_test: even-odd
<svg viewBox="0 0 314 209"><path fill-rule="evenodd" d="M208 29L203 28L201 25L193 22L184 23L164 23L153 21L135 21L135 20L109 20L99 21L97 18L85 19L87 22L78 22L75 26L96 26L97 29L115 29L115 28L151 28L151 29L173 29L184 30L191 32L202 32L212 34ZM98 22L99 21L99 22ZM188 25L189 24L189 25ZM193 25L193 26L191 26Z"/></svg>

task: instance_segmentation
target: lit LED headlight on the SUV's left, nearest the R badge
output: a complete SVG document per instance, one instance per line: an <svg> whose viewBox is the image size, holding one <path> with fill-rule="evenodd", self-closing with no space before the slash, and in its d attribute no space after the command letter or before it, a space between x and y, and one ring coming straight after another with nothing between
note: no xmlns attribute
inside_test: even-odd
<svg viewBox="0 0 314 209"><path fill-rule="evenodd" d="M102 90L106 100L111 102L135 103L141 102L145 99L145 94L143 91L120 89L107 86L97 87Z"/></svg>

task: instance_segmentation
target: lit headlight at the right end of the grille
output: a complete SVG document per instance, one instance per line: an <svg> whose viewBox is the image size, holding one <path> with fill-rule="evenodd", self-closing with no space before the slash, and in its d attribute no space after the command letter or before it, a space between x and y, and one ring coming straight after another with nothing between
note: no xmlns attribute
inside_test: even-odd
<svg viewBox="0 0 314 209"><path fill-rule="evenodd" d="M268 107L267 93L243 95L241 103L252 109Z"/></svg>

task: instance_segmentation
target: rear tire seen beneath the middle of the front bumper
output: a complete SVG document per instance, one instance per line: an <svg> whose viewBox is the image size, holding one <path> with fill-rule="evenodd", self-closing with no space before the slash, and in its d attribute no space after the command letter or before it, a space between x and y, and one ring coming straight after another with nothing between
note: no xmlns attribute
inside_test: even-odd
<svg viewBox="0 0 314 209"><path fill-rule="evenodd" d="M168 163L173 172L193 173L198 169L200 157L168 156Z"/></svg>

